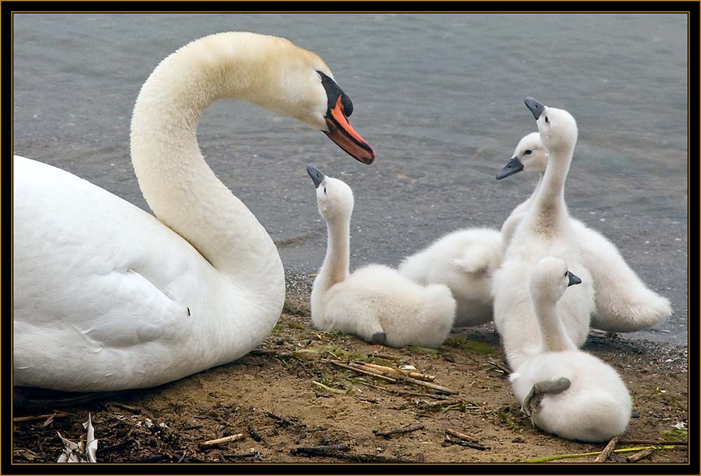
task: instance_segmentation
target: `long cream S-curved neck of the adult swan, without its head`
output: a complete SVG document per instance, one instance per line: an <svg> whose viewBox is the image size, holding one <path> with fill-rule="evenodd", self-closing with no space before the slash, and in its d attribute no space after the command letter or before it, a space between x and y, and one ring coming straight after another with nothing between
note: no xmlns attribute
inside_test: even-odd
<svg viewBox="0 0 701 476"><path fill-rule="evenodd" d="M134 107L131 156L139 187L161 222L226 276L245 276L246 285L269 289L283 274L278 251L205 163L197 142L203 111L223 97L250 100L254 78L266 67L260 57L240 54L237 38L200 39L156 67Z"/></svg>

